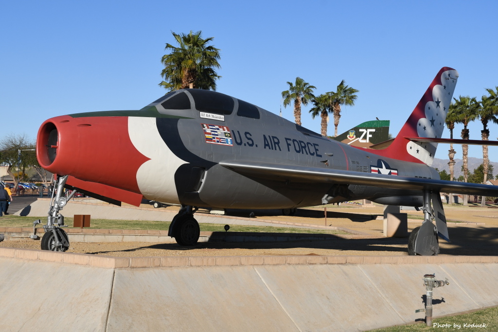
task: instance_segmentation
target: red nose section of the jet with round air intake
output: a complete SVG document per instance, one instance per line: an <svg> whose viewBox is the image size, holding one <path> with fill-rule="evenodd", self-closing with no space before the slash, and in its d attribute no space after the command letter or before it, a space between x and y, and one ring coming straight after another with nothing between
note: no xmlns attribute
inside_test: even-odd
<svg viewBox="0 0 498 332"><path fill-rule="evenodd" d="M129 139L127 116L48 119L38 130L36 155L40 165L54 174L135 193L140 192L136 172L148 160Z"/></svg>

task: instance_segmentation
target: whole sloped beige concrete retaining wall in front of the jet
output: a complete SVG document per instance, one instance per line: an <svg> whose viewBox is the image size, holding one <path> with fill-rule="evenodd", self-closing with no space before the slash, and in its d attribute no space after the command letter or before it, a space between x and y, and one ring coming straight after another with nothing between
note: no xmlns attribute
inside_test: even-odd
<svg viewBox="0 0 498 332"><path fill-rule="evenodd" d="M498 306L498 257L106 257L0 248L2 331L365 331ZM444 300L443 300L444 298Z"/></svg>

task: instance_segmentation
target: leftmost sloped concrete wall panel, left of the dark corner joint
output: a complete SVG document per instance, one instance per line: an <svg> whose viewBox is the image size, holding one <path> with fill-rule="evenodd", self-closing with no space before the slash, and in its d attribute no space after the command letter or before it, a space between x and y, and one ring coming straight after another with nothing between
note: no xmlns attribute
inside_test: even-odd
<svg viewBox="0 0 498 332"><path fill-rule="evenodd" d="M0 258L1 331L105 331L114 270Z"/></svg>

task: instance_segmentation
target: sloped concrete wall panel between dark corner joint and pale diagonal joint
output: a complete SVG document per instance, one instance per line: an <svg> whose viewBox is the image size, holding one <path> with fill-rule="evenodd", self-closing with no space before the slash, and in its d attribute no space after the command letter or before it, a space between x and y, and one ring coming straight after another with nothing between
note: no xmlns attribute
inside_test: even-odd
<svg viewBox="0 0 498 332"><path fill-rule="evenodd" d="M113 331L299 331L250 266L118 269Z"/></svg>

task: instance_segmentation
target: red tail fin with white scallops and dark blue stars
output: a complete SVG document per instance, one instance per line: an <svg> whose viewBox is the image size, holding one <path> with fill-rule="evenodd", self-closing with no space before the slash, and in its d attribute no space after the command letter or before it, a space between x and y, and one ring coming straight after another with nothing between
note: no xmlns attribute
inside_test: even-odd
<svg viewBox="0 0 498 332"><path fill-rule="evenodd" d="M457 80L455 69L441 68L391 145L373 153L431 166L437 143L414 142L406 137L441 138Z"/></svg>

